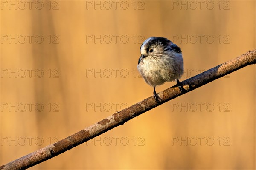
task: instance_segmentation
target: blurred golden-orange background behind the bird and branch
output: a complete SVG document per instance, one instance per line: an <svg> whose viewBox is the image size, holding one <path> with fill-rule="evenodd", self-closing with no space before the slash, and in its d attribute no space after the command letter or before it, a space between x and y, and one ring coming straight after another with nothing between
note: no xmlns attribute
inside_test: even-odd
<svg viewBox="0 0 256 170"><path fill-rule="evenodd" d="M181 81L256 48L253 0L0 5L1 165L152 96L148 37L182 49ZM30 169L255 169L255 87L250 65Z"/></svg>

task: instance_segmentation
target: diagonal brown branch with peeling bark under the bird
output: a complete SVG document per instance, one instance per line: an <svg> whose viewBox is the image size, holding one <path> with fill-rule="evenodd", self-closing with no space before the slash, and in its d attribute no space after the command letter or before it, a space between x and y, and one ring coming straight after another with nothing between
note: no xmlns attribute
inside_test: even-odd
<svg viewBox="0 0 256 170"><path fill-rule="evenodd" d="M204 71L203 73L192 78L186 79L181 83L187 92L189 92L251 64L256 64L256 50L248 51L246 54ZM179 88L177 85L175 85L158 94L163 100L160 104L155 102L154 96L148 97L147 99L123 109L120 112L116 112L113 115L108 116L106 119L103 119L98 123L91 125L90 127L87 127L86 129L81 130L65 139L2 165L0 170L18 170L32 167L46 161L47 159L51 159L54 156L64 153L65 151L70 150L73 147L76 147L96 136L99 136L100 134L113 129L114 127L123 125L125 122L133 119L134 117L139 116L140 114L183 94L180 93Z"/></svg>

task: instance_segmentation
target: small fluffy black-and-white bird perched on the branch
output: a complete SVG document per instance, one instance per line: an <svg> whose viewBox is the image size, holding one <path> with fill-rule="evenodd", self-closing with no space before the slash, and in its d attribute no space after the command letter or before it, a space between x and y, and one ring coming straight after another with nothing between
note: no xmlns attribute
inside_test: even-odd
<svg viewBox="0 0 256 170"><path fill-rule="evenodd" d="M149 37L140 47L138 71L146 83L154 87L157 103L162 99L156 93L156 86L165 82L177 81L181 93L186 90L179 79L184 72L181 49L163 37Z"/></svg>

